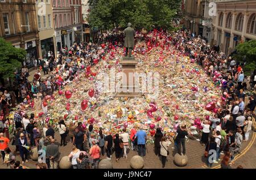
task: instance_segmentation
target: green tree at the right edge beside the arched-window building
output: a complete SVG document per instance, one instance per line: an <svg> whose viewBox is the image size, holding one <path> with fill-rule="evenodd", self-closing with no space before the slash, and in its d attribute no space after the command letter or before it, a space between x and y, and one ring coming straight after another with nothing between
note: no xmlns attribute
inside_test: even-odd
<svg viewBox="0 0 256 180"><path fill-rule="evenodd" d="M234 55L234 58L237 59L238 62L246 62L243 71L245 71L245 75L250 75L256 68L256 40L238 44L236 51L237 54Z"/></svg>

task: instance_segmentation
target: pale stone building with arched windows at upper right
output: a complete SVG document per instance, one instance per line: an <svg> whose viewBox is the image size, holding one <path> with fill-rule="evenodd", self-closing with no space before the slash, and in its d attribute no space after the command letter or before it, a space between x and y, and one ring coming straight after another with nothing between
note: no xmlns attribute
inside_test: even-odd
<svg viewBox="0 0 256 180"><path fill-rule="evenodd" d="M256 40L255 0L215 0L217 16L213 18L215 45L226 55L241 42Z"/></svg>

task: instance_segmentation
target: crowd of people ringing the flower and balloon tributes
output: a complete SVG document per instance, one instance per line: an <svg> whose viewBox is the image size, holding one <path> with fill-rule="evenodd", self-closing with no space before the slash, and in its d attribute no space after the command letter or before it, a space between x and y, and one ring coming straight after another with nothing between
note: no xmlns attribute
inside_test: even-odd
<svg viewBox="0 0 256 180"><path fill-rule="evenodd" d="M221 161L221 168L230 168L232 163L230 161L240 153L242 143L249 140L252 130L255 95L249 96L247 104L245 98L248 89L255 88L256 70L248 80L245 80L243 63L236 62L231 56L226 57L224 53L219 52L217 46L207 46L200 36L193 37L191 32L184 29L170 36L172 36L172 45L177 50L194 59L213 78L213 81L219 81L222 85L225 104L220 113L201 123L203 130L200 143L205 146L204 155L209 167ZM22 72L20 76L16 74L14 95L12 97L9 92L3 91L0 110L8 115L10 106L23 102L27 97L34 97L39 92L43 97L52 95L54 91L74 80L83 68L99 61L110 46L122 46L122 36L119 32L104 33L98 36L97 42L96 44L74 43L71 48L65 46L61 49L59 57L54 58L53 55L49 55L47 61L40 60L39 63L35 63L37 71L32 83L27 79L28 73ZM102 42L106 42L105 47L101 46ZM47 78L42 78L42 71L44 75L48 74ZM222 83L224 80L226 83ZM4 89L1 88L2 90ZM72 143L73 148L68 157L72 159L74 169L98 168L100 158L105 153L108 160L111 160L112 153L115 152L115 161L118 162L121 157L127 158L127 149L130 148L137 151L139 156L146 156L147 134L142 127L134 126L130 132L123 128L122 134L111 134L104 130L97 133L94 132L92 125L85 131L81 122L71 122L67 126L64 120L60 119L57 127L46 124L42 134L34 117L35 115L31 114L28 118L27 114L22 115L20 111L14 115L15 134L11 144L16 145L15 152L19 152L22 164L28 161L29 147L36 146L38 152L46 152L46 162L39 160L38 168L58 168L59 146L55 142L55 128L61 136L60 146L67 145L69 141L67 136L71 138L69 142ZM9 168L22 168L20 162L15 161L15 153L9 148L9 138L3 136L3 132L6 132L3 120L5 119L0 121L0 150L3 161ZM188 136L193 135L185 125L177 128L175 146L179 155L186 155L185 138ZM161 157L164 168L170 143L160 128L156 129L154 137L155 155ZM216 152L213 161L210 158L214 151L211 150Z"/></svg>

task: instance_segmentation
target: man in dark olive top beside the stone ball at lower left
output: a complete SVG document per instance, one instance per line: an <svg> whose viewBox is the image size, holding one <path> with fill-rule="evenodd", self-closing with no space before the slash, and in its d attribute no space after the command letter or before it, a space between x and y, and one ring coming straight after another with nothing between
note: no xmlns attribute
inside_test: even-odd
<svg viewBox="0 0 256 180"><path fill-rule="evenodd" d="M55 139L46 147L46 157L50 160L50 169L57 169L57 160L59 159L59 146L55 144Z"/></svg>

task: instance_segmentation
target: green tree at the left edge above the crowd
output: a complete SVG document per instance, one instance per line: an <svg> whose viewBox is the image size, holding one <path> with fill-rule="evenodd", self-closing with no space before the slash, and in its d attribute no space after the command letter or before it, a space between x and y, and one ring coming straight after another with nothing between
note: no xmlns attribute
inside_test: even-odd
<svg viewBox="0 0 256 180"><path fill-rule="evenodd" d="M24 49L14 48L10 42L0 38L0 74L4 79L14 78L14 72L22 67L26 54Z"/></svg>

